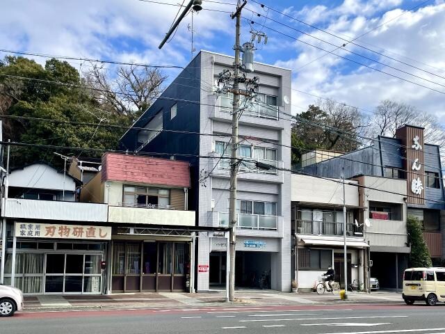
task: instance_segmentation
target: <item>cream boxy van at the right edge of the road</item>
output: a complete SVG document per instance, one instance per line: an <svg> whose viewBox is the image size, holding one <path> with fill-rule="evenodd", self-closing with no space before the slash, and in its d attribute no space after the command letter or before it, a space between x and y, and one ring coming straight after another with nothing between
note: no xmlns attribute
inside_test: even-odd
<svg viewBox="0 0 445 334"><path fill-rule="evenodd" d="M410 268L403 274L403 300L407 305L445 301L445 268Z"/></svg>

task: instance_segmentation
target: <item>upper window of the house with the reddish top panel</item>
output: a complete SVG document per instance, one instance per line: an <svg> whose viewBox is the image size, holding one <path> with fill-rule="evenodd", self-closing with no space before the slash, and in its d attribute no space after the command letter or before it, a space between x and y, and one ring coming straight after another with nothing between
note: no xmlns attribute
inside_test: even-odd
<svg viewBox="0 0 445 334"><path fill-rule="evenodd" d="M147 186L124 186L124 205L159 206L170 205L170 190Z"/></svg>

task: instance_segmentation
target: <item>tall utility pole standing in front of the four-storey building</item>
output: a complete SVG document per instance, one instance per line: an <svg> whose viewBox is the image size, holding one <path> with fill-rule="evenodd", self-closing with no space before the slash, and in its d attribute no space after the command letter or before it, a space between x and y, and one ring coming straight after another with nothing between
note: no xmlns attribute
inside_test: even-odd
<svg viewBox="0 0 445 334"><path fill-rule="evenodd" d="M234 84L232 86L232 93L234 95L233 112L232 112L232 159L230 164L230 194L229 194L229 239L230 239L230 273L229 273L229 301L235 300L235 246L236 246L236 176L238 173L238 113L239 113L239 67L241 50L240 35L241 35L241 10L247 1L244 1L240 6L236 7L236 12L231 15L232 19L236 18L236 32L235 32L235 63L234 63Z"/></svg>

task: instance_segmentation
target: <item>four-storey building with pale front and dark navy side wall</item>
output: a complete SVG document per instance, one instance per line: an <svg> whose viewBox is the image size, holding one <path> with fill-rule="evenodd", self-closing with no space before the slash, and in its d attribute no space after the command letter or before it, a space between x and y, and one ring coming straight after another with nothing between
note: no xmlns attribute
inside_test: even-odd
<svg viewBox="0 0 445 334"><path fill-rule="evenodd" d="M230 154L232 99L218 95L214 82L233 63L201 51L120 141L125 150L191 163L189 207L202 227L228 223L229 159L219 157ZM238 173L236 285L254 287L266 276L272 289L289 291L291 173L284 170L291 168L291 71L255 63L247 75L259 77L259 92L239 118L238 155L245 162ZM254 161L272 167L260 170ZM197 244L197 290L225 284L225 239L209 232Z"/></svg>

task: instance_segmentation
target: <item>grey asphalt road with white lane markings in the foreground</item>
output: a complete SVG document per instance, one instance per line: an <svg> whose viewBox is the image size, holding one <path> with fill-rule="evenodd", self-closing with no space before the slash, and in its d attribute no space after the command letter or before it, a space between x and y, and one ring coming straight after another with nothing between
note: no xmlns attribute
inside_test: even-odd
<svg viewBox="0 0 445 334"><path fill-rule="evenodd" d="M444 334L445 305L343 304L21 312L0 334Z"/></svg>

